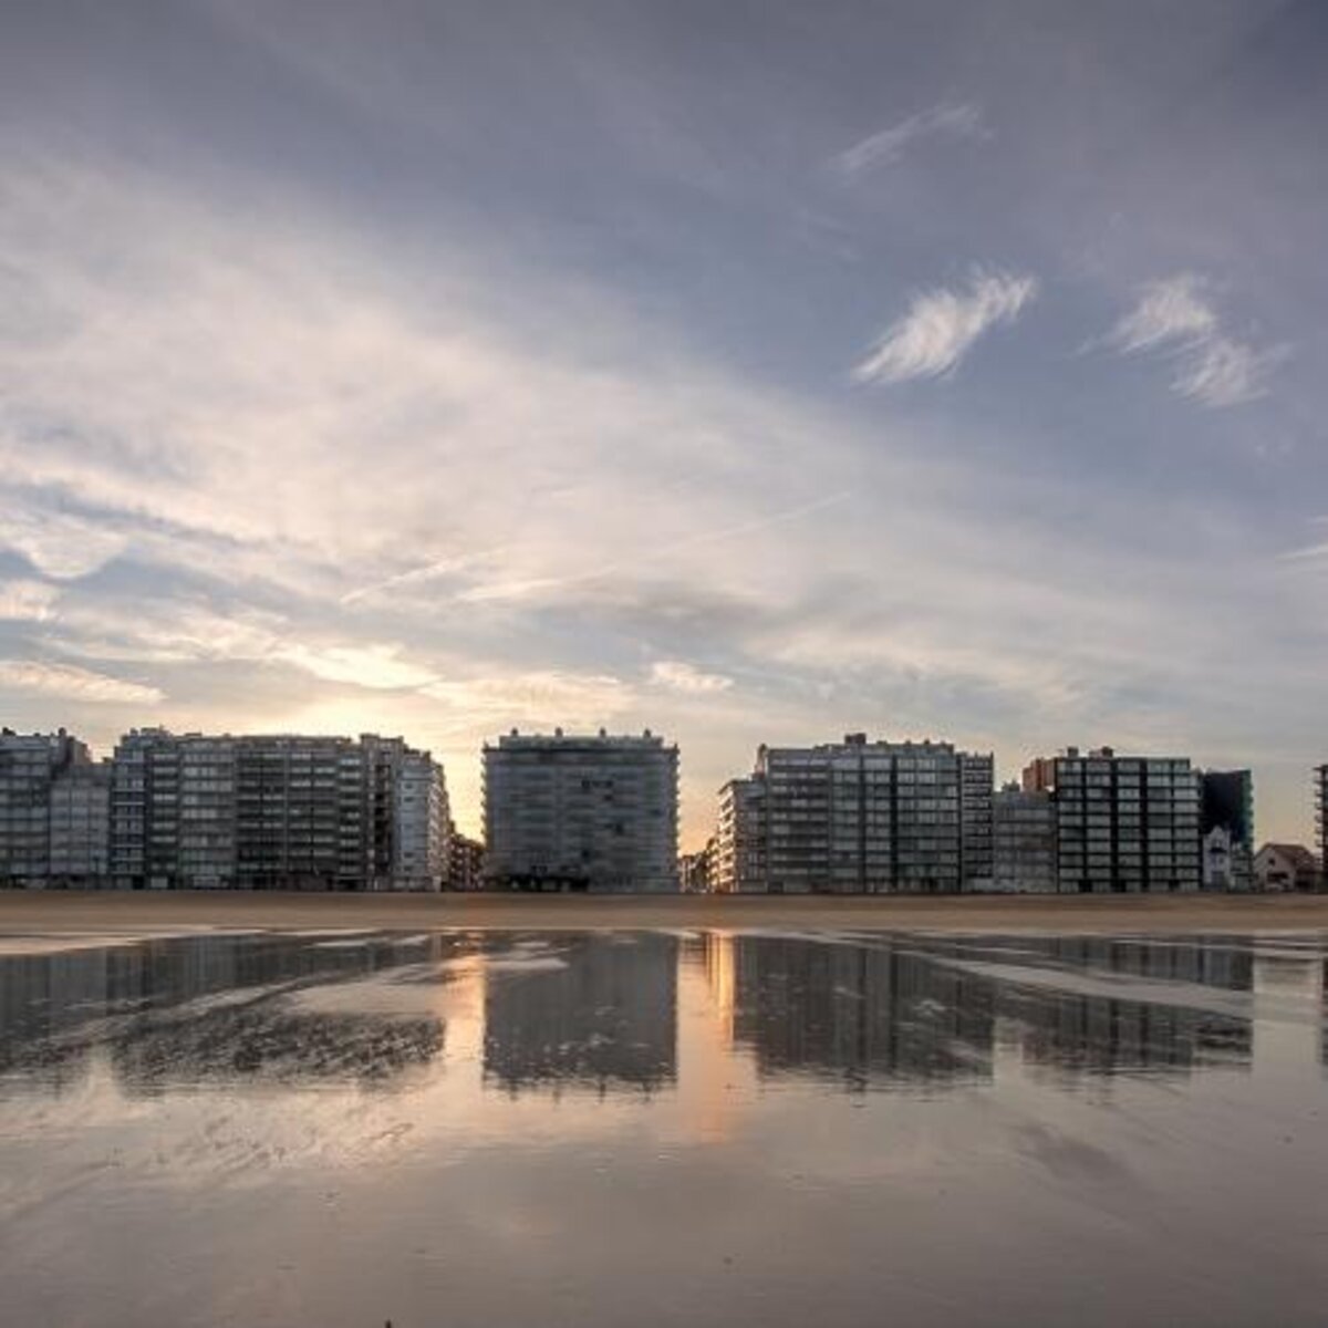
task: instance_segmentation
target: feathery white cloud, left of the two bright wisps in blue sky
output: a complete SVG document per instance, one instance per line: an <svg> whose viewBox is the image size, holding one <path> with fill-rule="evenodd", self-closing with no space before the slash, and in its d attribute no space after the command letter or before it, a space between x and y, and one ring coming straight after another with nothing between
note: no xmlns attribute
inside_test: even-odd
<svg viewBox="0 0 1328 1328"><path fill-rule="evenodd" d="M979 270L967 288L915 295L853 376L858 382L902 382L948 373L984 332L1013 323L1036 293L1033 276Z"/></svg>

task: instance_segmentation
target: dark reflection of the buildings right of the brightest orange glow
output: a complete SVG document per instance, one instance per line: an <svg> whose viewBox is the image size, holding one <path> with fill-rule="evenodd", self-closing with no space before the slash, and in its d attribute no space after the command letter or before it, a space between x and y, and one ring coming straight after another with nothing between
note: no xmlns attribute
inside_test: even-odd
<svg viewBox="0 0 1328 1328"><path fill-rule="evenodd" d="M732 992L721 1008L734 1042L766 1077L805 1073L853 1088L981 1082L997 1023L1024 1062L1077 1073L1247 1065L1251 1053L1248 1017L1202 1008L1202 992L1187 1005L1185 988L1248 992L1248 947L1072 938L1020 939L1005 951L738 936L732 975L724 955L708 956L708 971L713 989ZM1121 996L1077 991L1085 972L1120 981Z"/></svg>

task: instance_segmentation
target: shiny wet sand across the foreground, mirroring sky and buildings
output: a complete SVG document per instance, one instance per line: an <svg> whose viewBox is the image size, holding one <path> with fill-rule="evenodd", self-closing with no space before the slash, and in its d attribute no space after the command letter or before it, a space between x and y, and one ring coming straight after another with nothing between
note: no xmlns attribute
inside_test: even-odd
<svg viewBox="0 0 1328 1328"><path fill-rule="evenodd" d="M8 1323L1319 1324L1305 939L0 955Z"/></svg>

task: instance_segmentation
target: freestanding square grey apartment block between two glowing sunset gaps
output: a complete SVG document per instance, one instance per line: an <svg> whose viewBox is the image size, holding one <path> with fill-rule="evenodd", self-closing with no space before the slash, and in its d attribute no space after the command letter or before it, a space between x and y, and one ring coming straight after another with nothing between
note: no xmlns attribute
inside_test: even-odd
<svg viewBox="0 0 1328 1328"><path fill-rule="evenodd" d="M491 886L677 890L676 746L513 730L483 756Z"/></svg>

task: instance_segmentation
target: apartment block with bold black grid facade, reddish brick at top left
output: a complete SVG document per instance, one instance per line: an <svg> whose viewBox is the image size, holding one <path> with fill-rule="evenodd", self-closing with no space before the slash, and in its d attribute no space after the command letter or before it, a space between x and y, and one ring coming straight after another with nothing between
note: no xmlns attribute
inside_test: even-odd
<svg viewBox="0 0 1328 1328"><path fill-rule="evenodd" d="M1035 761L1024 788L1053 794L1062 894L1199 888L1199 778L1189 760L1069 748Z"/></svg>

